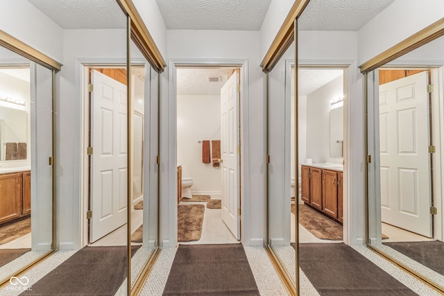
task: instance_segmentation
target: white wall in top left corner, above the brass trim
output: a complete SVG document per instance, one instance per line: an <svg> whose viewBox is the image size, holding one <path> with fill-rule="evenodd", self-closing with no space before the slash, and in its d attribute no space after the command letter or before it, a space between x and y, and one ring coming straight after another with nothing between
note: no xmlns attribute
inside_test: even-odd
<svg viewBox="0 0 444 296"><path fill-rule="evenodd" d="M60 62L63 30L26 0L0 1L0 28Z"/></svg>

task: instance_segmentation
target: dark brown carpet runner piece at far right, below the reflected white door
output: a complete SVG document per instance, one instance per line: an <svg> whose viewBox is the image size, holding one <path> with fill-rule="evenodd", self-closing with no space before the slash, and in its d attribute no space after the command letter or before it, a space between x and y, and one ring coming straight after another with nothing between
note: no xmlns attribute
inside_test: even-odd
<svg viewBox="0 0 444 296"><path fill-rule="evenodd" d="M384 243L384 245L444 275L444 243L442 241L412 241Z"/></svg>

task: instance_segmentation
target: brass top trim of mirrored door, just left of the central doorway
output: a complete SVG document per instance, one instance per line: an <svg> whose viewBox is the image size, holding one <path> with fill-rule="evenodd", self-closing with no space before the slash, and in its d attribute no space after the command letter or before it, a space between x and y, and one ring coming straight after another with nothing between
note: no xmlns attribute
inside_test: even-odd
<svg viewBox="0 0 444 296"><path fill-rule="evenodd" d="M162 58L162 54L155 45L153 37L148 32L142 17L137 12L137 9L132 0L117 0L119 6L122 8L131 21L131 37L134 43L142 51L145 58L150 62L151 66L158 72L163 72L167 64Z"/></svg>

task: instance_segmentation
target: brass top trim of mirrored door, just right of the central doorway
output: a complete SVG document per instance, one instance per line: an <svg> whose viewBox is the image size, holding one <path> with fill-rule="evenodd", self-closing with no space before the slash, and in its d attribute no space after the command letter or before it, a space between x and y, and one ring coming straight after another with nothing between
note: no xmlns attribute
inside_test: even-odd
<svg viewBox="0 0 444 296"><path fill-rule="evenodd" d="M282 55L287 51L291 43L293 42L294 36L294 24L293 21L298 19L304 11L305 7L310 0L296 0L291 7L289 14L284 19L284 23L280 27L278 34L270 45L270 48L265 54L260 67L262 71L271 71L275 64L279 61Z"/></svg>

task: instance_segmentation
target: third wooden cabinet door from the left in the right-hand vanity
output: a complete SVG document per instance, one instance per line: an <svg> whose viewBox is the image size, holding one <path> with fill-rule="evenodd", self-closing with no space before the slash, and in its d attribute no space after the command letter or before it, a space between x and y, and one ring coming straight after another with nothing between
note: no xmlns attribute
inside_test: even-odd
<svg viewBox="0 0 444 296"><path fill-rule="evenodd" d="M322 171L322 201L323 212L333 218L338 218L338 189L336 171Z"/></svg>

